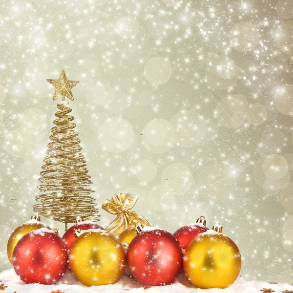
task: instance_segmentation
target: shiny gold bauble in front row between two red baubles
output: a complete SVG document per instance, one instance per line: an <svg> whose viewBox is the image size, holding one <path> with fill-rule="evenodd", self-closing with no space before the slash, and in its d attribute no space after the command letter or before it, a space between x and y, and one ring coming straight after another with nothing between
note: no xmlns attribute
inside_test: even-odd
<svg viewBox="0 0 293 293"><path fill-rule="evenodd" d="M105 230L77 230L69 251L69 266L86 286L115 283L123 274L125 252L122 244Z"/></svg>

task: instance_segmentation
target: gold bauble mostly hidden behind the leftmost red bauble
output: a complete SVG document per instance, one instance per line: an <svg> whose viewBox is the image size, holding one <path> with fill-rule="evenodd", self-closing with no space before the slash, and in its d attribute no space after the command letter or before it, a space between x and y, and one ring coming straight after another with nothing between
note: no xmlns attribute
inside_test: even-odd
<svg viewBox="0 0 293 293"><path fill-rule="evenodd" d="M13 254L14 248L16 244L19 242L19 240L21 239L21 237L30 231L37 230L44 227L50 229L45 224L41 223L41 218L39 217L38 213L35 212L31 220L22 224L21 226L19 226L12 232L7 243L7 255L11 264L13 264L12 254Z"/></svg>

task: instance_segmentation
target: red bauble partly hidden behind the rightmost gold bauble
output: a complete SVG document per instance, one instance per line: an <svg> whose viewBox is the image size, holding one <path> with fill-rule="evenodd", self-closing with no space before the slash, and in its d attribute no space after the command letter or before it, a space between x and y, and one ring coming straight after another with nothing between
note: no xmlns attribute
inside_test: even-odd
<svg viewBox="0 0 293 293"><path fill-rule="evenodd" d="M186 249L189 242L197 237L200 233L206 232L209 228L206 227L207 221L204 216L200 216L196 223L189 224L179 228L174 232L174 236L180 242L182 249Z"/></svg>

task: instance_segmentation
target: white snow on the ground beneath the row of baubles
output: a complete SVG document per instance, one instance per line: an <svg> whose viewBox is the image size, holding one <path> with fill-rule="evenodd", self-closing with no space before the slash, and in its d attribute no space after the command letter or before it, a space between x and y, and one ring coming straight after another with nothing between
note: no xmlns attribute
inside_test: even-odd
<svg viewBox="0 0 293 293"><path fill-rule="evenodd" d="M24 284L16 275L13 269L0 272L0 284L7 286L5 293L51 293L60 290L64 293L260 293L260 289L271 288L275 293L282 293L284 290L293 290L289 284L269 284L261 281L245 281L238 277L234 284L227 289L202 290L194 288L184 275L179 275L170 285L151 287L147 290L146 286L140 284L135 279L122 276L113 285L86 287L79 283L72 273L68 270L63 278L55 285Z"/></svg>

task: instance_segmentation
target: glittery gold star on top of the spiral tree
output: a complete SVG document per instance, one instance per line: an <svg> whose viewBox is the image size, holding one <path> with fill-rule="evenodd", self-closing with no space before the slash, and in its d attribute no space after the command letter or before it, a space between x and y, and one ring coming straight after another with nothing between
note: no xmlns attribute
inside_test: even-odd
<svg viewBox="0 0 293 293"><path fill-rule="evenodd" d="M62 101L65 101L65 97L74 101L71 88L79 83L79 81L68 81L64 69L62 69L58 80L47 80L52 84L55 89L53 101L62 96Z"/></svg>

